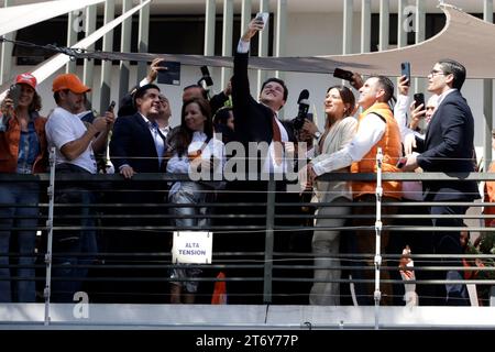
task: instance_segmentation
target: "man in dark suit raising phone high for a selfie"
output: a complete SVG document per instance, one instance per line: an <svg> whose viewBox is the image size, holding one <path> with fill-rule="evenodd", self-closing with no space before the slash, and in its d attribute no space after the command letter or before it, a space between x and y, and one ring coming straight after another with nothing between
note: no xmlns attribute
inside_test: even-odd
<svg viewBox="0 0 495 352"><path fill-rule="evenodd" d="M249 51L250 41L258 32L263 30L263 22L254 19L249 23L246 32L241 36L239 45L234 55L234 75L232 77L232 106L234 116L234 127L237 131L237 138L241 142L246 151L246 173L250 174L250 179L253 176L258 177L258 173L262 173L262 177L257 178L257 182L238 182L229 184L229 190L238 190L239 195L235 196L237 199L242 199L243 202L266 202L267 195L267 183L266 176L270 174L283 174L292 167L292 163L288 163L288 157L286 153L286 147L289 143L295 143L296 138L294 133L294 128L290 122L280 121L278 119L278 111L285 106L287 101L288 90L285 82L278 78L268 78L263 82L258 101L256 101L250 92L250 82L248 78L248 65L249 65ZM252 143L257 143L256 147L261 151L258 155L248 155L248 145ZM294 145L294 144L293 144ZM243 162L243 161L242 161ZM248 178L248 175L246 175ZM265 179L265 180L263 180ZM276 185L276 201L277 202L297 202L298 194L288 194L286 190L286 183L277 182ZM230 195L229 197L232 197ZM275 212L277 215L289 215L295 211L300 211L300 207L277 207ZM235 224L239 227L258 226L265 227L266 224L266 206L258 207L243 207L238 208L234 211L239 211L243 215L256 216L257 218L248 217L243 219L242 217L237 218ZM232 212L232 210L231 210ZM239 222L244 221L243 223ZM296 224L292 223L292 220L283 219L282 224ZM297 223L298 224L298 223ZM296 233L275 233L275 244L274 251L278 252L298 252L302 251L301 245L298 245L298 241L308 240L297 233L299 237L296 238ZM243 251L243 252L264 252L265 251L265 235L263 232L246 232L246 233L233 233L227 239L231 243L231 250ZM309 250L309 240L307 241L307 248ZM278 257L279 258L279 257ZM260 256L256 257L260 260ZM284 276L287 271L280 271L280 273L274 273L275 276ZM242 271L228 273L228 276L263 276L262 270L255 272L255 270ZM289 273L294 274L293 273ZM258 285L260 284L260 285ZM241 283L229 283L229 290L233 295L229 296L231 302L256 302L262 301L262 287L261 282L241 282ZM284 302L295 302L294 295L288 293L288 289L282 285L277 287L274 284L274 292L283 293L279 295L280 298L287 298ZM294 283L288 283L294 290L297 285ZM257 287L256 287L257 286ZM309 292L309 287L298 289L299 293ZM251 294L250 297L244 297L241 295ZM288 294L288 295L287 295ZM230 298L232 297L232 299ZM275 297L277 298L277 297ZM239 300L238 300L239 299ZM296 300L302 304L307 301L306 298L296 297ZM278 302L282 302L278 300Z"/></svg>

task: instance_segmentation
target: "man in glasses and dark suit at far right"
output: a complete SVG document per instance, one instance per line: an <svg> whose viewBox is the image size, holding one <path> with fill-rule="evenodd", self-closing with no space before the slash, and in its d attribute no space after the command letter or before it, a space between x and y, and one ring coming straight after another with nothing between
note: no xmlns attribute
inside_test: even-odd
<svg viewBox="0 0 495 352"><path fill-rule="evenodd" d="M418 166L425 172L471 173L474 151L474 119L471 109L460 90L465 80L465 68L452 59L442 59L435 64L428 75L428 90L439 96L425 140L417 139L417 150L421 154L408 156L405 169L414 170ZM444 201L442 206L432 206L430 213L433 227L462 227L462 217L435 218L437 216L463 216L466 206L451 206L453 201L473 201L480 198L477 185L469 182L424 182L426 201ZM460 231L439 231L433 234L436 254L461 254ZM448 258L444 265L462 266L461 260ZM443 279L462 279L457 271L448 271ZM443 287L442 287L443 289ZM441 292L443 304L469 305L465 285L449 284Z"/></svg>

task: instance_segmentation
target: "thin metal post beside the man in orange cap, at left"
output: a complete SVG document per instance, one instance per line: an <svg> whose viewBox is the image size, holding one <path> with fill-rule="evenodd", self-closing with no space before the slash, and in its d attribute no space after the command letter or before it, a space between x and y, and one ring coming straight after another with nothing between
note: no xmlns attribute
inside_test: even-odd
<svg viewBox="0 0 495 352"><path fill-rule="evenodd" d="M48 230L45 264L46 264L46 282L45 289L43 290L43 296L45 298L45 320L44 324L50 324L50 297L52 287L52 248L53 248L53 217L54 217L54 205L55 205L55 147L50 150L50 185L47 189L48 194L48 220L46 220L46 228Z"/></svg>

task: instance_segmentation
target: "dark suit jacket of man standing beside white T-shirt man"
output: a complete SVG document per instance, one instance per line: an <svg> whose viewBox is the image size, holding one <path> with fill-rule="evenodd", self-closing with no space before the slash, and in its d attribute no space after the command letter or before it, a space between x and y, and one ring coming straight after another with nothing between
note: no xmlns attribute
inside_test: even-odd
<svg viewBox="0 0 495 352"><path fill-rule="evenodd" d="M116 120L110 141L110 157L116 170L124 164L131 165L138 173L163 170L158 166L158 155L150 128L138 112Z"/></svg>

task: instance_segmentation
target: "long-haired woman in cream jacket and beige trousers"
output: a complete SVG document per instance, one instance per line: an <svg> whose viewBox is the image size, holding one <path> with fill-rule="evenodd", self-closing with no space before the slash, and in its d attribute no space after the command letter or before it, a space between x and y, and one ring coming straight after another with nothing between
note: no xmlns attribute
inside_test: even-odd
<svg viewBox="0 0 495 352"><path fill-rule="evenodd" d="M352 118L355 108L355 98L351 89L344 86L333 86L327 90L324 98L324 113L327 120L324 132L321 134L314 122L305 121L302 130L318 140L315 147L315 158L311 163L328 157L337 151L343 148L353 139L358 129L358 121ZM349 167L336 170L349 173ZM352 189L350 182L323 182L317 180L314 185L315 196L311 201L319 202L316 215L316 228L312 234L312 253L315 256L315 283L309 294L310 305L338 306L340 304L340 261L336 257L339 254L340 230L345 223L344 216L351 213L351 208L345 206L326 206L332 202L351 202ZM333 280L333 282L332 282Z"/></svg>

